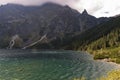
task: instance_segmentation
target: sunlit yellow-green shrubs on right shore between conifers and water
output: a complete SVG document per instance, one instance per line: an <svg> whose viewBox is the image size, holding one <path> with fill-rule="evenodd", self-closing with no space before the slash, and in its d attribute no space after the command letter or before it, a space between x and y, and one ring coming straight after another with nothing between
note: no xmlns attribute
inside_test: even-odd
<svg viewBox="0 0 120 80"><path fill-rule="evenodd" d="M106 59L108 62L120 64L120 47L106 48L101 50L88 50L94 56L94 59Z"/></svg>

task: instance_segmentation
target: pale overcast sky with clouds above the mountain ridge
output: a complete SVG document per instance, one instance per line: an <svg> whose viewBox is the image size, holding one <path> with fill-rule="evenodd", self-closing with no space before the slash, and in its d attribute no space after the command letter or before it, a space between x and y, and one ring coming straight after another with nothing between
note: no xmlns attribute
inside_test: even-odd
<svg viewBox="0 0 120 80"><path fill-rule="evenodd" d="M109 17L120 14L120 0L0 0L0 4L41 5L45 2L67 4L79 12L86 9L89 14L96 17Z"/></svg>

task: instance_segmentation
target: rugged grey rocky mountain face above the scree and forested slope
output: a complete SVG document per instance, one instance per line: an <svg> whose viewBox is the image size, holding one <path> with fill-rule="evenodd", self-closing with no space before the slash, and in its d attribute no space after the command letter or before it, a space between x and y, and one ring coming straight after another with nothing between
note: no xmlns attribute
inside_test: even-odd
<svg viewBox="0 0 120 80"><path fill-rule="evenodd" d="M47 41L85 31L109 19L97 19L87 13L82 14L69 6L46 3L41 6L7 4L0 7L0 44L9 44L10 38L19 35L24 45L37 41L47 34Z"/></svg>

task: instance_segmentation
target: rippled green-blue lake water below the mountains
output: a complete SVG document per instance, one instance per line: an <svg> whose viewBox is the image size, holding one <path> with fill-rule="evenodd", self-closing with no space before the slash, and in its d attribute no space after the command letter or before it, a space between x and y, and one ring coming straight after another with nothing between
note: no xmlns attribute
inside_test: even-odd
<svg viewBox="0 0 120 80"><path fill-rule="evenodd" d="M117 68L85 52L0 50L0 80L95 80Z"/></svg>

